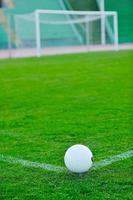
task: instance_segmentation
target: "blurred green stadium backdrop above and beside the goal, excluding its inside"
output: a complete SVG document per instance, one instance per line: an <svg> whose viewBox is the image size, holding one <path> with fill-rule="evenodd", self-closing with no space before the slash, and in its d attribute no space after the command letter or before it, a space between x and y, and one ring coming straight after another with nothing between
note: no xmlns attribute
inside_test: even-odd
<svg viewBox="0 0 133 200"><path fill-rule="evenodd" d="M99 10L99 0L5 0L3 8L0 9L0 49L8 48L8 16L12 14L31 13L36 9L53 10ZM133 1L127 0L105 0L106 11L117 11L119 22L119 43L133 43ZM16 35L14 33L14 22L11 25L11 43L15 48ZM26 28L25 28L26 29ZM32 37L32 36L31 36Z"/></svg>

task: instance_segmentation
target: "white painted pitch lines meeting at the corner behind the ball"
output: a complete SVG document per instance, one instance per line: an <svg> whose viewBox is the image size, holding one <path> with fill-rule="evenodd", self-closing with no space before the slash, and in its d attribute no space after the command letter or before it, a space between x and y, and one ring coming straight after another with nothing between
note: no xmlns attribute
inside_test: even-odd
<svg viewBox="0 0 133 200"><path fill-rule="evenodd" d="M127 158L133 157L133 150L129 150L127 152L111 156L107 159L95 162L92 170L97 170L102 167L106 167L108 165L111 165L112 163L125 160ZM55 166L55 165L50 165L50 164L45 164L45 163L38 163L38 162L33 162L29 160L23 160L23 159L17 159L11 156L4 156L3 154L0 154L0 161L11 163L11 164L20 164L25 167L33 167L33 168L40 168L48 171L56 171L56 172L61 172L65 171L65 167L60 167L60 166Z"/></svg>

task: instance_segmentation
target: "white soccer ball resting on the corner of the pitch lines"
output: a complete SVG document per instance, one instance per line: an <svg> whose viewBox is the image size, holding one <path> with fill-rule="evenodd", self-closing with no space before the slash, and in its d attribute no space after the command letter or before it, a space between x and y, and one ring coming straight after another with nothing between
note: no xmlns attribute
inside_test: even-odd
<svg viewBox="0 0 133 200"><path fill-rule="evenodd" d="M64 162L69 171L73 173L85 173L93 164L91 150L81 144L71 146L65 153Z"/></svg>

